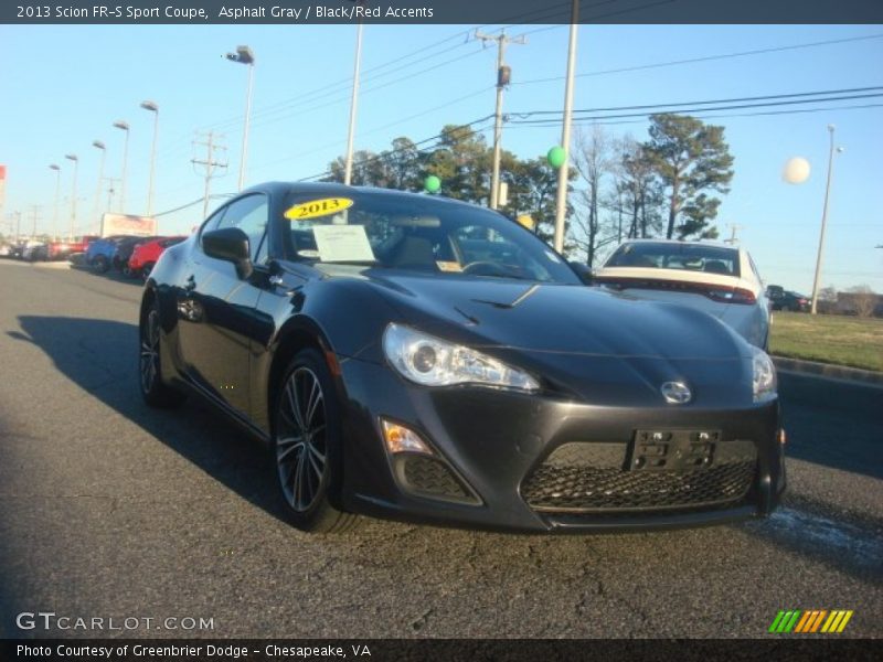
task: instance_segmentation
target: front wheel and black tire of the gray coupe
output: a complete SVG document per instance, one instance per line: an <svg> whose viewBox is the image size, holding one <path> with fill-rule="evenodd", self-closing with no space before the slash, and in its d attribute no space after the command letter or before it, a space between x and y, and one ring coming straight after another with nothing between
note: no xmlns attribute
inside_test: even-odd
<svg viewBox="0 0 883 662"><path fill-rule="evenodd" d="M342 478L340 406L331 373L321 354L307 349L283 374L270 450L288 520L310 533L351 531L360 517L331 503Z"/></svg>

